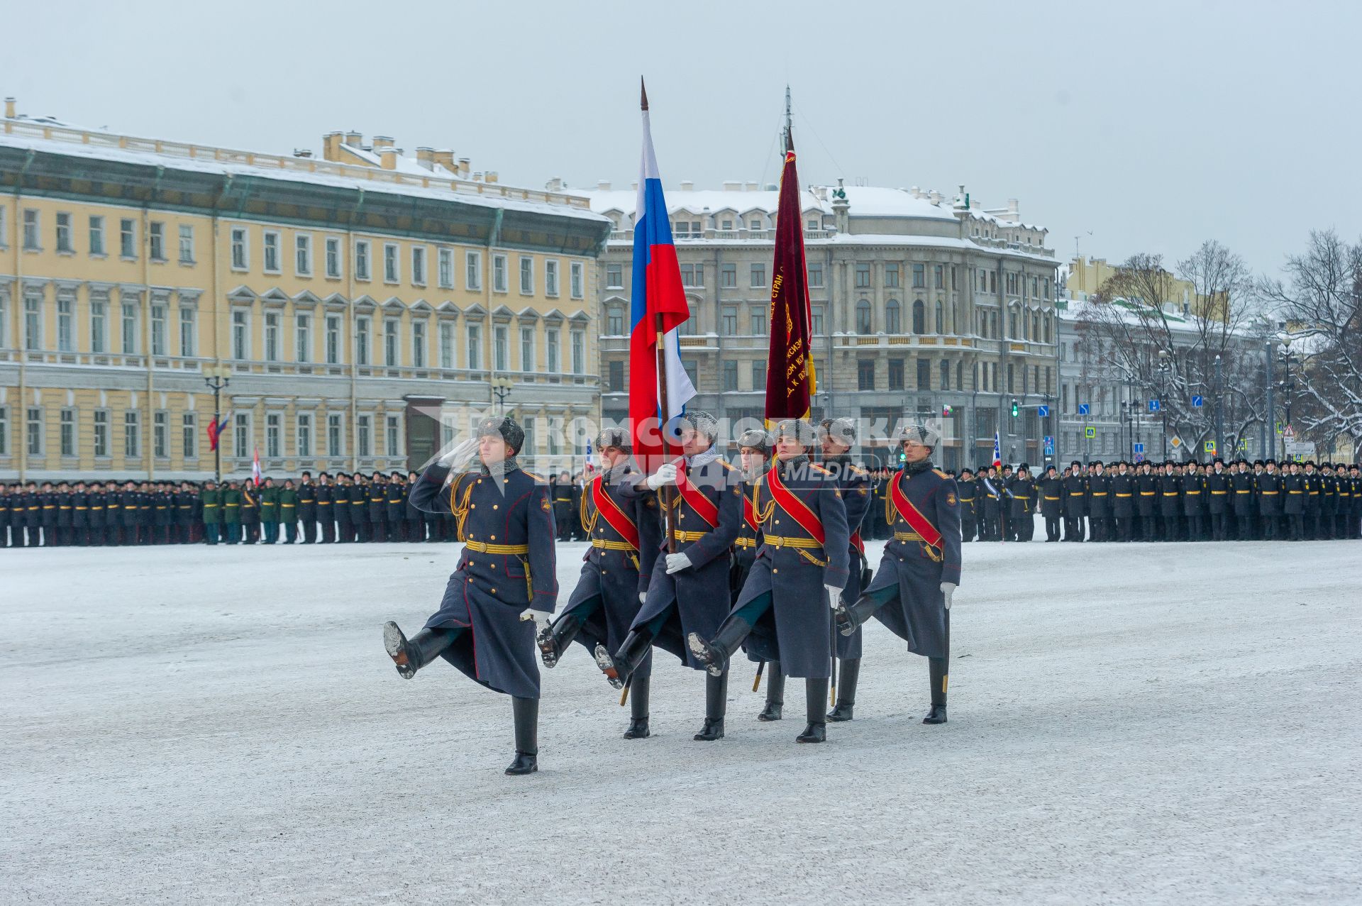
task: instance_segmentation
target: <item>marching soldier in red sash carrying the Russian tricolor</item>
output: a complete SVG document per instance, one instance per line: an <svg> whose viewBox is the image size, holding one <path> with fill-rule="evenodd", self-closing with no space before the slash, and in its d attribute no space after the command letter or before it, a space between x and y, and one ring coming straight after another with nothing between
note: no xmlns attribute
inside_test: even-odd
<svg viewBox="0 0 1362 906"><path fill-rule="evenodd" d="M612 654L597 646L597 666L610 685L624 688L652 646L670 651L682 663L704 670L706 663L686 649L686 636L714 638L719 623L729 613L729 559L733 540L742 523L741 474L714 448L718 422L706 411L688 411L680 417L682 456L663 463L640 482L658 490L676 486L671 503L676 553L663 546L656 554L647 598L620 647ZM723 738L729 673L706 676L704 725L696 741Z"/></svg>

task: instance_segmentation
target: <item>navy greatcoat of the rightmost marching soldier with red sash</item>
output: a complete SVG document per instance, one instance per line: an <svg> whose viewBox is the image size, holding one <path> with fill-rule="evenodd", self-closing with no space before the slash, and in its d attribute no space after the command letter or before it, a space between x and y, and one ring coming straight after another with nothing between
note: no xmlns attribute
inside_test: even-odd
<svg viewBox="0 0 1362 906"><path fill-rule="evenodd" d="M891 599L874 612L876 619L908 643L908 651L929 658L945 657L945 599L941 583L960 584L960 503L955 478L937 469L908 474L899 471L893 481L904 496L941 533L940 552L910 538L913 526L889 508L893 537L884 545L884 559L868 591L899 587L898 601Z"/></svg>

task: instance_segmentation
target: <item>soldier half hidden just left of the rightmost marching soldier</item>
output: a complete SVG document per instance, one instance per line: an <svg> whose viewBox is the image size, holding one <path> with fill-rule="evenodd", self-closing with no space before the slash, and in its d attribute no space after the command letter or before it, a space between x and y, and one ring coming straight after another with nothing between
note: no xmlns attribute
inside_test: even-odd
<svg viewBox="0 0 1362 906"><path fill-rule="evenodd" d="M823 421L821 429L821 465L832 475L832 482L842 495L842 507L851 545L847 549L847 580L842 586L839 599L843 604L855 604L861 597L862 589L870 584L870 568L865 561L865 541L861 537L862 526L870 510L870 475L851 462L851 447L855 446L855 421L850 418L827 418ZM970 485L972 489L974 482L971 481ZM829 638L836 646L832 663L834 668L839 669L838 676L834 677L838 700L832 710L828 711L827 719L836 723L850 721L855 708L855 688L861 677L862 634L858 629L850 636L843 636L832 631L831 614L828 620ZM772 677L776 672L779 670L772 672Z"/></svg>

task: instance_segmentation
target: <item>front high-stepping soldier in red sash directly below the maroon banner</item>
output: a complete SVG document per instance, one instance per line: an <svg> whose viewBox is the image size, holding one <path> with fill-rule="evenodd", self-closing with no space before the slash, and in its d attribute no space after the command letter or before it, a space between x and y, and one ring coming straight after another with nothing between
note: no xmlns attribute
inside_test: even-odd
<svg viewBox="0 0 1362 906"><path fill-rule="evenodd" d="M744 640L785 676L805 677L808 723L795 743L823 743L834 669L828 604L839 599L847 582L851 534L838 480L809 460L817 439L813 425L787 418L774 433L776 462L755 490L761 525L756 563L718 631L712 636L692 631L686 642L714 677L727 673L729 658ZM840 429L828 433L838 441L844 437ZM819 587L823 594L813 591ZM849 703L846 719L850 711Z"/></svg>

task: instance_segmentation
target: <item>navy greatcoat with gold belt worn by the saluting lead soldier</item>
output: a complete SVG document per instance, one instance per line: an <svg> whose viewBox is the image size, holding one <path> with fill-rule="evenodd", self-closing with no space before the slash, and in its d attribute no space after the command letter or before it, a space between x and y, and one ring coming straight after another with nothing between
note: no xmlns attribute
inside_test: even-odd
<svg viewBox="0 0 1362 906"><path fill-rule="evenodd" d="M558 599L553 504L542 478L520 469L504 475L482 466L449 478L434 463L411 485L411 504L452 512L464 542L440 609L428 629L466 629L444 659L473 680L522 699L539 698L539 657L526 608L553 613ZM524 553L505 553L511 545Z"/></svg>

